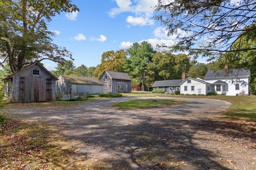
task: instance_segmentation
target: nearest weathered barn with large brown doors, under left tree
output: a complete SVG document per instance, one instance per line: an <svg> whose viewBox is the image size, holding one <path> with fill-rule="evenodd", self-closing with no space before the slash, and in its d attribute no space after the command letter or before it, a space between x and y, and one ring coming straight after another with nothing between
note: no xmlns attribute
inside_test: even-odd
<svg viewBox="0 0 256 170"><path fill-rule="evenodd" d="M5 97L11 102L55 100L56 80L39 62L23 67L4 79Z"/></svg>

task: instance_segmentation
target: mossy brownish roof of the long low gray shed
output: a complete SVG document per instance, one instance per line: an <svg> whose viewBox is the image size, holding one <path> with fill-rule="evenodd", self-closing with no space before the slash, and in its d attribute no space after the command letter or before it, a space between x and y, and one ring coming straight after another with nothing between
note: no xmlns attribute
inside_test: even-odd
<svg viewBox="0 0 256 170"><path fill-rule="evenodd" d="M71 75L62 75L62 77L65 80L69 81L71 84L103 85L103 83L99 82L94 78L77 77Z"/></svg>

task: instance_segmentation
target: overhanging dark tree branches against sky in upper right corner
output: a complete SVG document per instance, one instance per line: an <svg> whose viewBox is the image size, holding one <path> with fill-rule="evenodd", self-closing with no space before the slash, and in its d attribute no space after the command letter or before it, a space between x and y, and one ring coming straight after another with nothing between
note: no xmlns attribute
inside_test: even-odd
<svg viewBox="0 0 256 170"><path fill-rule="evenodd" d="M214 57L256 49L231 48L237 39L255 31L255 5L254 0L158 0L155 18L166 25L169 35L178 35L174 50Z"/></svg>

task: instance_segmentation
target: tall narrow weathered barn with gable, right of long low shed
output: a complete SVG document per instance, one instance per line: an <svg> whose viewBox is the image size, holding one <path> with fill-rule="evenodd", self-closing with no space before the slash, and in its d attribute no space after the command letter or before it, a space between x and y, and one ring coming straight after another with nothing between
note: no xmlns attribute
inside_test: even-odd
<svg viewBox="0 0 256 170"><path fill-rule="evenodd" d="M105 70L100 76L100 82L104 84L104 93L131 92L132 79L127 73Z"/></svg>

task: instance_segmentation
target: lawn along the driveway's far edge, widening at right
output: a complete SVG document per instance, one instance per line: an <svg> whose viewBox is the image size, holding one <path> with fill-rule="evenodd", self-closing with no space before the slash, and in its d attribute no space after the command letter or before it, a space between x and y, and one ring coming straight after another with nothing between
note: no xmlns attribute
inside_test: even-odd
<svg viewBox="0 0 256 170"><path fill-rule="evenodd" d="M132 92L123 94L124 97L180 97L180 98L207 98L225 100L231 106L223 113L226 117L241 120L256 121L256 96L182 96L171 94L152 94L151 92Z"/></svg>

